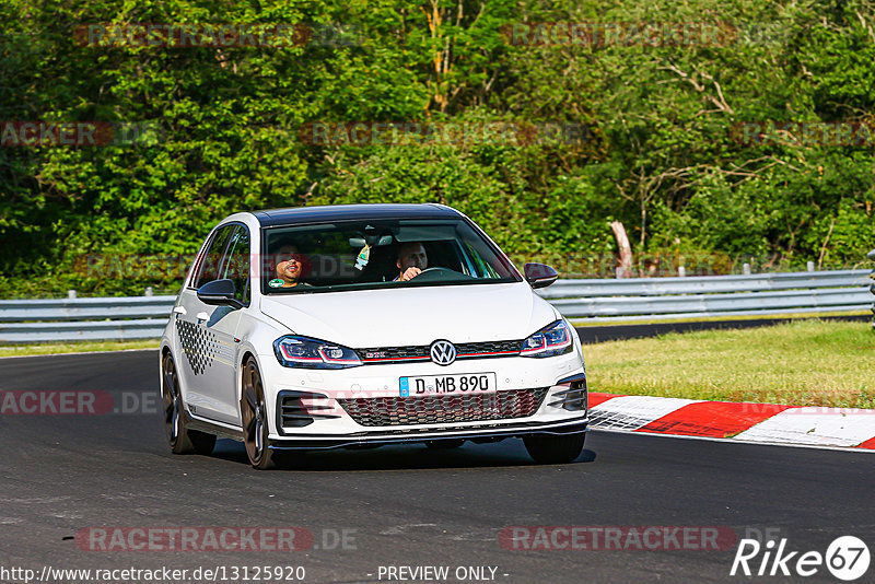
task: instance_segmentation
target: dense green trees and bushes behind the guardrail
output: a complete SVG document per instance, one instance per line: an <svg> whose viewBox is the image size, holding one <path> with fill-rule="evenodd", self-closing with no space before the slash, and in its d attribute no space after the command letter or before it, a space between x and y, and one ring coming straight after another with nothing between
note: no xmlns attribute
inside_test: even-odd
<svg viewBox="0 0 875 584"><path fill-rule="evenodd" d="M158 270L83 266L185 258L232 212L317 203L451 205L520 261L612 254L614 220L641 255L826 268L860 265L875 246L871 143L810 143L802 130L752 143L734 130L875 122L866 0L7 0L0 19L0 120L159 130L136 145L0 148L4 296L173 291L185 259ZM283 47L74 42L77 26L109 22L284 23L315 34ZM656 46L508 36L514 24L556 22L710 23L732 34ZM312 121L587 133L362 147L310 143L300 130Z"/></svg>

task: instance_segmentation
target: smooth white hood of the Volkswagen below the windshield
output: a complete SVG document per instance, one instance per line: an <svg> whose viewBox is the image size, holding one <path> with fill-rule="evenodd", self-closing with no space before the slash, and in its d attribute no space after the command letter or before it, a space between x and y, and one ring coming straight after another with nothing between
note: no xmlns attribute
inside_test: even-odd
<svg viewBox="0 0 875 584"><path fill-rule="evenodd" d="M352 348L524 339L558 313L525 283L262 296L295 335Z"/></svg>

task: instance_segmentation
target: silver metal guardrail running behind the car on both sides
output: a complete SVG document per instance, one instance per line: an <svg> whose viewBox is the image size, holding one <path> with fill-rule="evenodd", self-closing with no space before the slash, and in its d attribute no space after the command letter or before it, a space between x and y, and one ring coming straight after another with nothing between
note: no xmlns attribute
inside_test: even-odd
<svg viewBox="0 0 875 584"><path fill-rule="evenodd" d="M875 250L871 254L875 259ZM873 308L870 270L559 280L538 294L587 323ZM0 343L159 338L176 296L0 301Z"/></svg>

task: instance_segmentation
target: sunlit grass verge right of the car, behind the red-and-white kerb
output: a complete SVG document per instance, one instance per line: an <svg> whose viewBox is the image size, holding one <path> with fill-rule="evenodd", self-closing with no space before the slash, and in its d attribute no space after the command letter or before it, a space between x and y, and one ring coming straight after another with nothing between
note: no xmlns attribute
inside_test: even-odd
<svg viewBox="0 0 875 584"><path fill-rule="evenodd" d="M875 408L868 323L800 320L584 346L590 390Z"/></svg>

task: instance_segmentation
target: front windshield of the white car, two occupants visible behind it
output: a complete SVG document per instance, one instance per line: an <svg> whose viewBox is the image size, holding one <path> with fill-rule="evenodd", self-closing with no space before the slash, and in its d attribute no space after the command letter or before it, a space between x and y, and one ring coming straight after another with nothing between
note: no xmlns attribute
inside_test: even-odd
<svg viewBox="0 0 875 584"><path fill-rule="evenodd" d="M261 249L266 294L522 281L506 257L460 219L270 227Z"/></svg>

